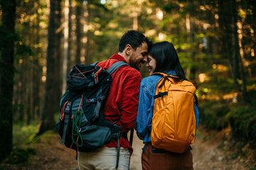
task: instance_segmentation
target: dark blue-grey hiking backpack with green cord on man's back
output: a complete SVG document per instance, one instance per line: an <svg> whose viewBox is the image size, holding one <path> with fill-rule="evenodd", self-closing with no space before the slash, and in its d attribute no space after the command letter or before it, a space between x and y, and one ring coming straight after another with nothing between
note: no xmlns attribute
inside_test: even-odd
<svg viewBox="0 0 256 170"><path fill-rule="evenodd" d="M123 65L128 64L115 62L107 70L96 64L75 64L71 69L68 89L60 100L60 119L55 124L66 147L88 152L122 136L122 129L105 118L103 108L111 74Z"/></svg>

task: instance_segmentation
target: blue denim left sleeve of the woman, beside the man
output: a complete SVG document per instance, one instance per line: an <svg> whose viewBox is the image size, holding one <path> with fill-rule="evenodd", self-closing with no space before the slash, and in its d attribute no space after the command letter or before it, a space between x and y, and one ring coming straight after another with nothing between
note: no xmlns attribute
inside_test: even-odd
<svg viewBox="0 0 256 170"><path fill-rule="evenodd" d="M141 83L139 88L139 106L137 119L135 122L135 130L140 140L144 140L146 132L148 130L148 117L149 117L149 107L150 101L149 97L146 95L144 84Z"/></svg>

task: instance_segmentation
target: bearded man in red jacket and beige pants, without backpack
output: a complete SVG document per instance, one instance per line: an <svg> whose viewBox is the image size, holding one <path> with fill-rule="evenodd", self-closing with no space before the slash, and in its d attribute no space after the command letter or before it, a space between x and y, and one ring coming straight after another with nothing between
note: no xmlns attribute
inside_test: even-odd
<svg viewBox="0 0 256 170"><path fill-rule="evenodd" d="M146 62L147 50L151 41L137 30L129 30L119 41L118 54L109 60L99 62L97 66L108 69L114 62L124 61L128 65L119 67L112 74L112 84L105 103L105 118L111 123L117 121L122 132L127 134L134 128L137 118L139 84L142 79L139 69ZM129 169L132 146L127 136L119 139L118 169ZM115 169L117 163L117 141L108 142L93 152L78 152L79 169Z"/></svg>

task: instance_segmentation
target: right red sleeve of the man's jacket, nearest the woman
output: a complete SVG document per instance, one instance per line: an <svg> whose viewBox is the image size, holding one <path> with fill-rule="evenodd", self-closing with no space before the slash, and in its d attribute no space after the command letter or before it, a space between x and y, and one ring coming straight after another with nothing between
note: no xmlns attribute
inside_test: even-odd
<svg viewBox="0 0 256 170"><path fill-rule="evenodd" d="M121 115L119 124L123 131L129 131L134 128L134 123L137 118L139 84L142 77L138 74L130 74L122 86L121 99Z"/></svg>

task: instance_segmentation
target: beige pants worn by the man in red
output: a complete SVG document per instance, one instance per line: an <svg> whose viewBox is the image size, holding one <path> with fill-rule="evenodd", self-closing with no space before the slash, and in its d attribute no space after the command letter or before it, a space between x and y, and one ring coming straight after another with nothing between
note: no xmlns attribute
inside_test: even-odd
<svg viewBox="0 0 256 170"><path fill-rule="evenodd" d="M127 148L120 147L118 170L129 169L130 154ZM92 152L78 152L79 170L111 170L117 164L117 148L105 145Z"/></svg>

